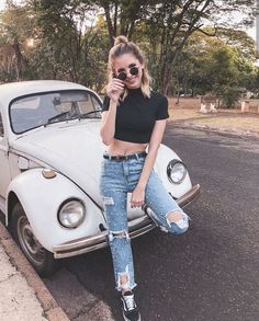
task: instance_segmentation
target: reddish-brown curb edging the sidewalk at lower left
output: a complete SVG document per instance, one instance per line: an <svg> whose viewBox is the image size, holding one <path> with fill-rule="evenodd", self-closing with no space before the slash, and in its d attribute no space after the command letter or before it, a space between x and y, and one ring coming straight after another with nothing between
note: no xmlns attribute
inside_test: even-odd
<svg viewBox="0 0 259 321"><path fill-rule="evenodd" d="M10 257L11 264L15 266L15 268L25 277L27 284L34 289L47 320L69 321L70 319L68 319L67 314L53 298L52 294L46 288L45 284L36 274L2 222L0 222L0 242Z"/></svg>

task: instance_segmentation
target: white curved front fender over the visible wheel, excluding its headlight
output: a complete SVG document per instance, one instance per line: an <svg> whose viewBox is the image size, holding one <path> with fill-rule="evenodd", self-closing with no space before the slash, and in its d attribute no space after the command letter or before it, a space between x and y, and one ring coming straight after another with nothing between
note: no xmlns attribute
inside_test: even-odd
<svg viewBox="0 0 259 321"><path fill-rule="evenodd" d="M50 252L53 245L94 234L100 231L100 223L105 226L102 210L98 205L69 179L58 172L55 174L52 179L45 179L43 169L27 170L11 182L7 197L9 218L11 209L8 199L14 193L35 237ZM75 229L64 228L57 219L60 204L69 198L79 198L86 206L86 218Z"/></svg>

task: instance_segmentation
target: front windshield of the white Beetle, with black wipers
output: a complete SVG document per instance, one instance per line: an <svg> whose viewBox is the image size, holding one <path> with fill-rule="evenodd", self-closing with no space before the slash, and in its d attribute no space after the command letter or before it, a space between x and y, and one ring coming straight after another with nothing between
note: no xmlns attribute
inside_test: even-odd
<svg viewBox="0 0 259 321"><path fill-rule="evenodd" d="M15 134L22 134L50 123L81 117L100 118L100 103L93 93L80 90L21 98L10 105L11 127Z"/></svg>

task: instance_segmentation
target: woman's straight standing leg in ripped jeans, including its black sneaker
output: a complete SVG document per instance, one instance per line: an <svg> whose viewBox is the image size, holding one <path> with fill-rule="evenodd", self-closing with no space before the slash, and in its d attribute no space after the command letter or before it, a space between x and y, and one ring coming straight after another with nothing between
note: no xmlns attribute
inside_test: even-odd
<svg viewBox="0 0 259 321"><path fill-rule="evenodd" d="M140 320L132 289L134 266L127 228L127 167L123 162L104 161L101 169L100 192L109 227L116 289L122 293L124 320Z"/></svg>

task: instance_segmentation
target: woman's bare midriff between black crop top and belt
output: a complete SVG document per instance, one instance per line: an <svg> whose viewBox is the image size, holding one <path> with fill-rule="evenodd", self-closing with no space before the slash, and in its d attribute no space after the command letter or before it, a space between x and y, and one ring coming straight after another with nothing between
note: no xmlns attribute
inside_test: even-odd
<svg viewBox="0 0 259 321"><path fill-rule="evenodd" d="M130 142L114 139L113 142L108 147L108 153L111 156L131 154L145 151L146 148L147 144Z"/></svg>

